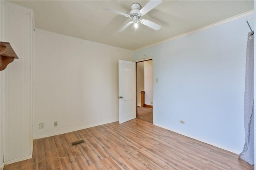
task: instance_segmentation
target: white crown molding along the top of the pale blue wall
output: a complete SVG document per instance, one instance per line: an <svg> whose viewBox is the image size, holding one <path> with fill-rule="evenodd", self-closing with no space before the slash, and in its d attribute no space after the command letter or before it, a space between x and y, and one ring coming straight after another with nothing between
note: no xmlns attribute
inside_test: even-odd
<svg viewBox="0 0 256 170"><path fill-rule="evenodd" d="M135 51L140 51L140 50L142 50L142 49L146 49L146 48L149 48L149 47L152 47L152 46L155 46L155 45L159 45L159 44L162 44L162 43L166 43L166 42L172 41L172 40L174 40L174 39L179 39L179 38L181 38L181 37L185 37L185 36L188 36L188 35L191 35L191 34L194 34L194 33L198 33L198 32L200 32L200 31L203 31L203 30L206 30L206 29L210 29L210 28L212 28L212 27L216 27L216 26L218 26L218 25L222 25L222 24L224 24L224 23L228 23L228 22L231 22L231 21L234 21L234 20L238 20L238 19L240 19L240 18L244 18L244 17L250 16L250 15L252 15L252 14L254 14L254 10L251 10L251 11L248 11L248 12L244 12L244 13L239 14L239 15L237 15L237 16L233 16L233 17L231 17L231 18L227 18L227 19L225 19L225 20L218 21L218 22L216 22L216 23L212 23L212 24L207 25L207 26L205 26L205 27L201 27L201 28L198 28L198 29L189 31L189 32L186 32L186 33L177 35L177 36L175 36L175 37L172 37L172 38L169 38L169 39L165 39L165 40L159 41L159 42L157 42L157 43L153 43L153 44L151 44L151 45L147 45L147 46L145 46L145 47L136 49ZM245 24L246 24L246 23L245 23Z"/></svg>

